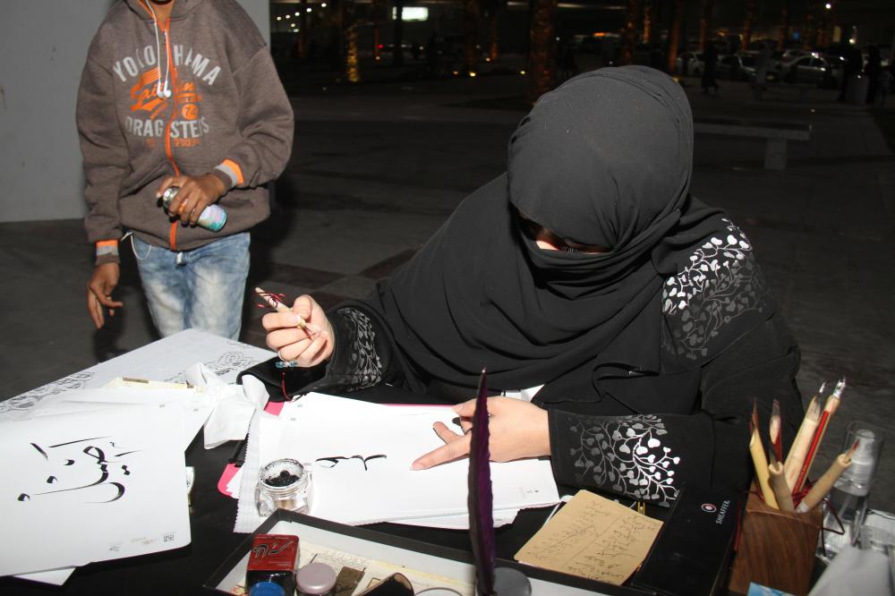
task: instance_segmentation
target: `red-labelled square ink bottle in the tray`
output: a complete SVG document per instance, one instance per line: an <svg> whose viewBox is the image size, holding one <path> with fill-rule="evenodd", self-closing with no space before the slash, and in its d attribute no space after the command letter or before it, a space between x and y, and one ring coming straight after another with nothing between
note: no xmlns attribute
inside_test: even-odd
<svg viewBox="0 0 895 596"><path fill-rule="evenodd" d="M293 596L298 536L258 534L251 542L245 568L245 589L250 596Z"/></svg>

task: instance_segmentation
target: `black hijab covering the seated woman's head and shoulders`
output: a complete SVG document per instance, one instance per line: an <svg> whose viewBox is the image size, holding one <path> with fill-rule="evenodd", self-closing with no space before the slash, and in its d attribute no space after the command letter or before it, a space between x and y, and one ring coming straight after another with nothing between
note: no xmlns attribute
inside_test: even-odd
<svg viewBox="0 0 895 596"><path fill-rule="evenodd" d="M658 371L661 286L722 227L688 194L692 158L690 107L667 75L577 76L524 117L507 174L467 197L371 305L417 372L459 387L482 367L489 387L547 384L539 396L587 393L601 366ZM542 250L517 211L609 251Z"/></svg>

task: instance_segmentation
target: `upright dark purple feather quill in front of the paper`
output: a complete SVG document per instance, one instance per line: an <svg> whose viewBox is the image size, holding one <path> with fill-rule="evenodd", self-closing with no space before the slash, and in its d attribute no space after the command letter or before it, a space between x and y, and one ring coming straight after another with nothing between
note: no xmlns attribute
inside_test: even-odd
<svg viewBox="0 0 895 596"><path fill-rule="evenodd" d="M491 494L491 466L488 443L488 387L485 370L479 379L479 395L475 400L472 442L469 447L469 538L473 543L476 592L491 596L494 592L494 560L497 558L494 540L493 495Z"/></svg>

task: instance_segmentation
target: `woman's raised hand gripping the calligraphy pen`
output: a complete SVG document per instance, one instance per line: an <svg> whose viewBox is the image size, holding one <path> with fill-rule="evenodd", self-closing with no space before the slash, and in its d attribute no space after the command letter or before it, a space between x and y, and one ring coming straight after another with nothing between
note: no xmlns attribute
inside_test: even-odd
<svg viewBox="0 0 895 596"><path fill-rule="evenodd" d="M308 327L320 328L320 335L314 336L306 328L298 327L300 320ZM292 311L264 315L261 325L268 332L268 347L276 350L282 360L311 367L328 360L333 353L333 328L320 304L307 294L295 299Z"/></svg>

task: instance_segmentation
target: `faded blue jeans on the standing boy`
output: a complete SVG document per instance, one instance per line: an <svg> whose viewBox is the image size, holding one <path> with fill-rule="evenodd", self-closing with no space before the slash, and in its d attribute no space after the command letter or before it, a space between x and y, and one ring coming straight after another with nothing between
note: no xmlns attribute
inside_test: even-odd
<svg viewBox="0 0 895 596"><path fill-rule="evenodd" d="M239 338L249 241L243 232L175 252L132 236L149 314L161 336L196 328Z"/></svg>

